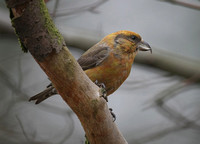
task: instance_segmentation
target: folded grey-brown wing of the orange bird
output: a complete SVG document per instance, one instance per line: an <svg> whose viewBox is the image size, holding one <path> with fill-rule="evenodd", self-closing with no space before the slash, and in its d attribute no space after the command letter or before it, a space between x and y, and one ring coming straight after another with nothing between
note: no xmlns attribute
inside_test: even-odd
<svg viewBox="0 0 200 144"><path fill-rule="evenodd" d="M83 70L100 65L109 55L109 47L96 44L87 50L79 59L78 63Z"/></svg>

